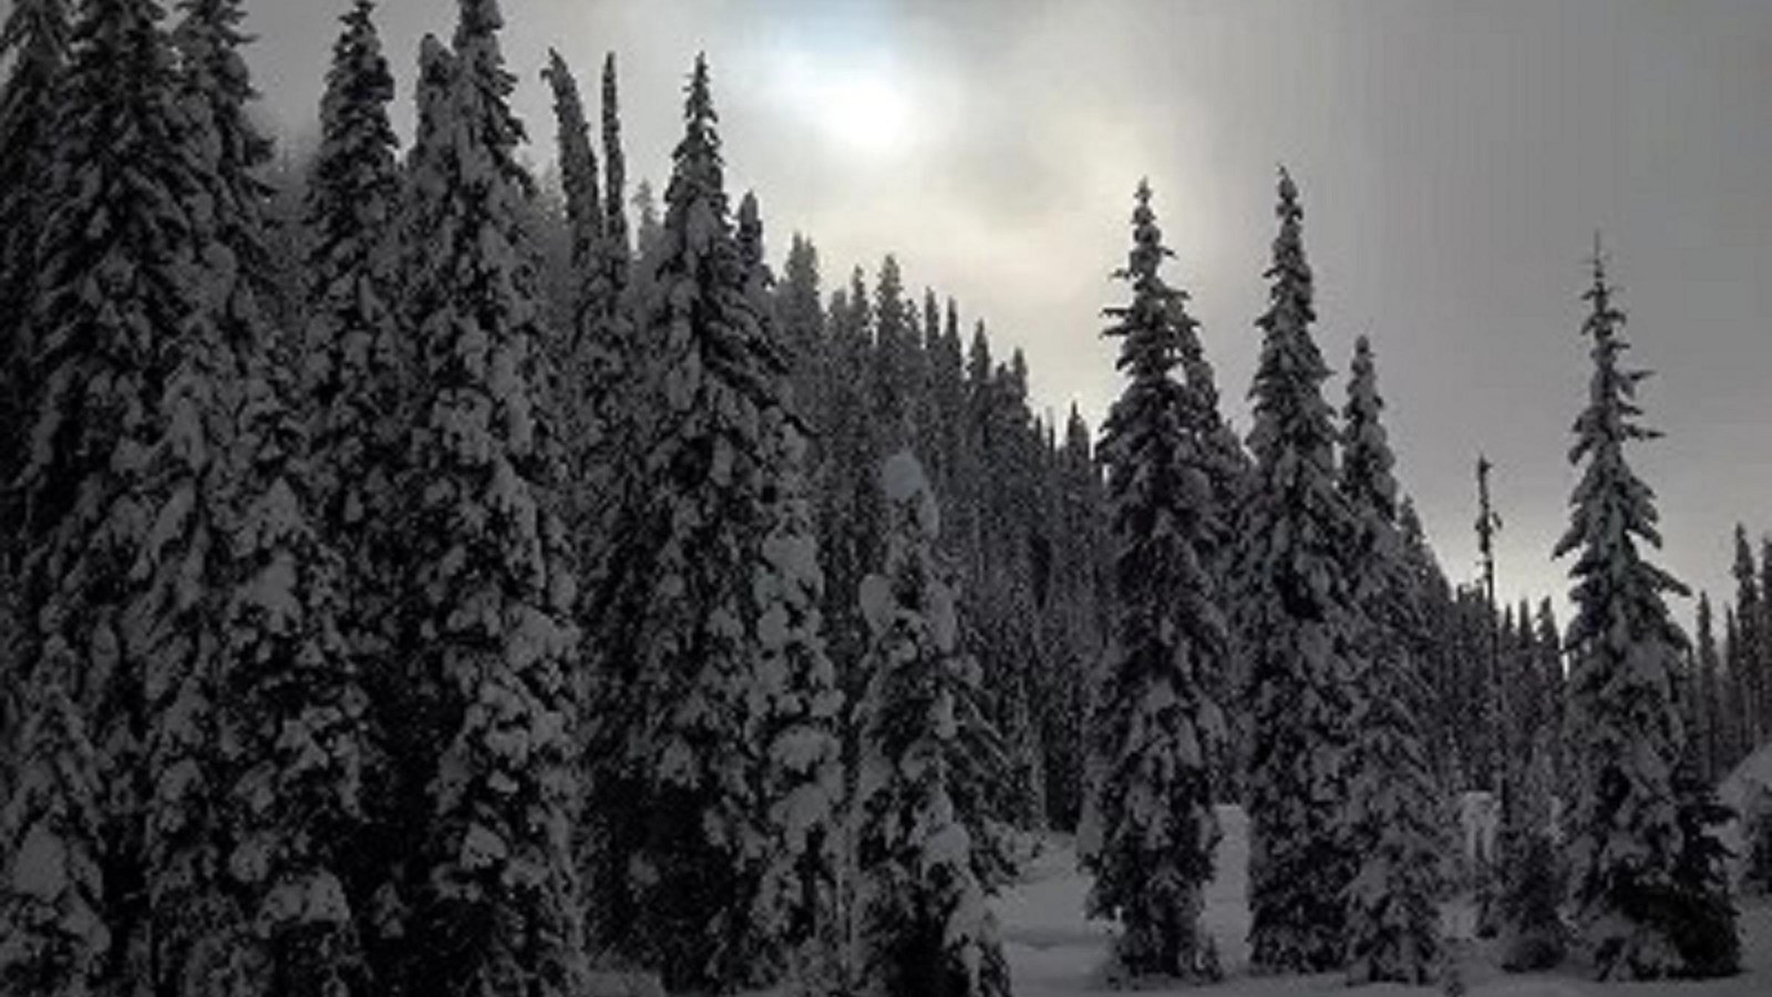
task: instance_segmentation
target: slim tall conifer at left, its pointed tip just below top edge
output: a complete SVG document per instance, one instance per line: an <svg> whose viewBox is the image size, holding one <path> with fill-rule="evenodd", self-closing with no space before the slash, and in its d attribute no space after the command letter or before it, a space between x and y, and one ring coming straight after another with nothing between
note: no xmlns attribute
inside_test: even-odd
<svg viewBox="0 0 1772 997"><path fill-rule="evenodd" d="M308 497L314 529L342 559L337 624L369 699L365 722L374 742L360 763L367 832L354 839L347 896L370 969L379 985L392 986L388 949L400 946L404 924L386 910L399 894L399 875L390 871L400 867L411 846L409 827L399 818L406 766L392 763L404 754L386 752L390 731L408 718L393 596L406 582L400 488L408 481L415 357L399 312L393 227L400 176L388 122L393 76L374 5L354 4L342 25L321 98L321 147L305 206ZM340 804L347 800L340 797ZM416 814L422 807L406 811ZM321 814L338 818L328 809Z"/></svg>

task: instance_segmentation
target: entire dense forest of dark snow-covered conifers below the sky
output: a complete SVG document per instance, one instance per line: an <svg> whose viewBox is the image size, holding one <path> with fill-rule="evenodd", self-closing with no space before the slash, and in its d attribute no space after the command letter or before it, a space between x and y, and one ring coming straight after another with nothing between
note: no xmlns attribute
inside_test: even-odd
<svg viewBox="0 0 1772 997"><path fill-rule="evenodd" d="M1689 637L1600 245L1558 619L1439 564L1380 344L1313 337L1306 177L1246 433L1161 192L1095 206L1088 426L897 255L773 266L707 59L656 193L615 53L521 67L548 144L523 5L459 0L402 142L340 5L294 163L241 0L0 34L0 990L1008 995L992 898L1049 836L1109 983L1216 983L1223 807L1255 974L1441 985L1464 894L1508 969L1740 970L1772 805L1735 883L1715 789L1772 740L1772 536Z"/></svg>

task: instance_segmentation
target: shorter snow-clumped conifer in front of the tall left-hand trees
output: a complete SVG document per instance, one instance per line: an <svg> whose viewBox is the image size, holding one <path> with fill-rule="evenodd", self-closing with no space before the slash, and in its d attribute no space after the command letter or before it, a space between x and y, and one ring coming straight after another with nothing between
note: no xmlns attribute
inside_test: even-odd
<svg viewBox="0 0 1772 997"><path fill-rule="evenodd" d="M369 983L351 896L369 699L340 626L346 569L310 514L291 346L273 341L250 358L241 412L220 692L229 873L245 887L245 922L216 940L252 993L344 997Z"/></svg>

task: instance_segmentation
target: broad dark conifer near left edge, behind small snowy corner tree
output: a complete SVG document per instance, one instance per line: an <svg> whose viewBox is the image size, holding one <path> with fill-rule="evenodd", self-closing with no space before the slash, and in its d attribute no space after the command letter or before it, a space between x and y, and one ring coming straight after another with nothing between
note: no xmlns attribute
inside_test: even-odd
<svg viewBox="0 0 1772 997"><path fill-rule="evenodd" d="M34 624L21 681L60 683L85 720L105 788L105 976L135 990L154 979L145 750L161 724L149 704L206 672L207 475L225 452L213 397L225 349L195 321L211 300L195 280L198 231L186 209L206 192L161 20L151 0L96 0L73 27L19 481L30 545L21 619Z"/></svg>

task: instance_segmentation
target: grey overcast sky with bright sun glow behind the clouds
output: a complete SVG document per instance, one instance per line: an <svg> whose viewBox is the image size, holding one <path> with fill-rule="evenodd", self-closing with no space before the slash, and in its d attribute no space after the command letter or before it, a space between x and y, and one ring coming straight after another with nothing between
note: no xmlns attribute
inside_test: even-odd
<svg viewBox="0 0 1772 997"><path fill-rule="evenodd" d="M4 5L4 0L0 0ZM248 0L287 135L314 108L344 0ZM1586 392L1584 257L1605 232L1650 420L1666 564L1728 591L1729 529L1772 530L1772 4L507 0L537 163L556 46L622 60L629 176L664 179L698 50L730 181L780 259L826 287L898 255L907 282L1021 346L1037 404L1090 422L1118 390L1099 310L1148 176L1168 275L1194 296L1247 426L1274 165L1304 195L1318 342L1373 337L1391 438L1448 568L1474 573L1473 463L1494 459L1508 594L1563 594L1570 424ZM452 0L383 0L406 131L416 39ZM1331 383L1340 406L1340 376ZM1682 617L1690 607L1682 607Z"/></svg>

